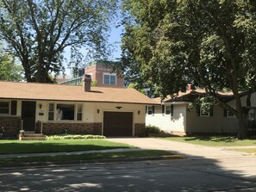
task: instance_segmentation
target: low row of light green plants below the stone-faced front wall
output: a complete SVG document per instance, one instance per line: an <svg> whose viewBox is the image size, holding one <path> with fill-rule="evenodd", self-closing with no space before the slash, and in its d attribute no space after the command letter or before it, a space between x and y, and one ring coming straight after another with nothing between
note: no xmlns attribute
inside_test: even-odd
<svg viewBox="0 0 256 192"><path fill-rule="evenodd" d="M105 139L103 135L92 134L67 134L67 135L52 135L47 136L47 140L61 140L61 139Z"/></svg>

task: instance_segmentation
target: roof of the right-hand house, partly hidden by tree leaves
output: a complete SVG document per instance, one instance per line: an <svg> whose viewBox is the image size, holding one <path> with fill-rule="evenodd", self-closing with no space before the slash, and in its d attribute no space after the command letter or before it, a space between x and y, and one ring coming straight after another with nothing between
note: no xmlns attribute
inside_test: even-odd
<svg viewBox="0 0 256 192"><path fill-rule="evenodd" d="M154 98L155 102L191 102L197 96L205 96L206 92L203 89L197 90L186 90L185 92L179 91L178 94L174 96L166 96L164 99L161 97ZM231 91L218 91L219 97L224 101L228 102L234 99L233 92Z"/></svg>

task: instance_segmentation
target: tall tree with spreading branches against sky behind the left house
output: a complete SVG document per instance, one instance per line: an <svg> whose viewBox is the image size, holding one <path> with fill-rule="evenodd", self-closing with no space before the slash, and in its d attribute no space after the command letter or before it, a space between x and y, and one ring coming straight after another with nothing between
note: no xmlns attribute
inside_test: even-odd
<svg viewBox="0 0 256 192"><path fill-rule="evenodd" d="M63 70L66 47L73 58L81 47L96 58L107 56L115 9L116 0L1 0L0 38L21 60L28 82L46 83L50 73Z"/></svg>

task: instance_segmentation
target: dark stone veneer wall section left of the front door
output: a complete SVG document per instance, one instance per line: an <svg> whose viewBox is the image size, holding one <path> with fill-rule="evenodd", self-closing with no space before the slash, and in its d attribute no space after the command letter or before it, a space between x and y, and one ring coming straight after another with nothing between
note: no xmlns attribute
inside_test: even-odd
<svg viewBox="0 0 256 192"><path fill-rule="evenodd" d="M16 138L21 127L21 120L22 118L18 116L0 116L0 128L4 129L3 137Z"/></svg>

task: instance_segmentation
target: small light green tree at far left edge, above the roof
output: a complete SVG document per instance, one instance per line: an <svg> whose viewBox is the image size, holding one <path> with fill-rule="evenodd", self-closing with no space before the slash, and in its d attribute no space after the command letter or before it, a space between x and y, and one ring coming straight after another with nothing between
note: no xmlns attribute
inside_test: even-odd
<svg viewBox="0 0 256 192"><path fill-rule="evenodd" d="M15 58L10 53L0 53L0 80L22 81L22 65L16 65Z"/></svg>

